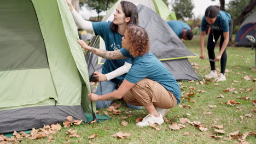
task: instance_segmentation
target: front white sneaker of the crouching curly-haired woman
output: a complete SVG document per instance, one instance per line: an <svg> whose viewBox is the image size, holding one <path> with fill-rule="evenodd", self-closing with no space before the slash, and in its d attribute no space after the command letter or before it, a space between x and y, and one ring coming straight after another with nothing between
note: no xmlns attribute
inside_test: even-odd
<svg viewBox="0 0 256 144"><path fill-rule="evenodd" d="M149 125L148 122L161 125L162 123L164 123L164 118L162 118L161 113L159 113L159 117L154 117L153 115L148 114L146 117L143 118L142 122L138 122L136 123L136 125L138 127L145 127Z"/></svg>

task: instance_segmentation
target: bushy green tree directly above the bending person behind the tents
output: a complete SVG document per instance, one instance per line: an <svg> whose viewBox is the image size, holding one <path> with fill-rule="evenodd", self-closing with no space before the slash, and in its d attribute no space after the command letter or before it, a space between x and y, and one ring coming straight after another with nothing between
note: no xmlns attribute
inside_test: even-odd
<svg viewBox="0 0 256 144"><path fill-rule="evenodd" d="M192 10L194 7L191 0L173 0L172 10L175 12L177 19L184 20L193 16Z"/></svg>

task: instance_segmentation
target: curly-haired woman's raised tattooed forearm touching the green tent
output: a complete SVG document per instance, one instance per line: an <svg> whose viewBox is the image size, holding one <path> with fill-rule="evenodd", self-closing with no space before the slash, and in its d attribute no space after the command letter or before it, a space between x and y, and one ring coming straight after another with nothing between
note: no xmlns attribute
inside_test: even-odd
<svg viewBox="0 0 256 144"><path fill-rule="evenodd" d="M105 59L127 58L120 52L120 50L115 50L115 51L100 50L100 49L96 49L94 47L88 46L83 40L77 40L77 42L82 46L83 49L89 50L90 52L94 53L95 55L103 57Z"/></svg>

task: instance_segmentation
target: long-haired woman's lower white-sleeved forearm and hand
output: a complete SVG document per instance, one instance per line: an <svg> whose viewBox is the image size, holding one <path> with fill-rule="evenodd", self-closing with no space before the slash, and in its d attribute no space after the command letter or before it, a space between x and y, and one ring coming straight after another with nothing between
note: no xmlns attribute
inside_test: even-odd
<svg viewBox="0 0 256 144"><path fill-rule="evenodd" d="M107 74L102 74L102 73L98 73L98 72L94 72L94 77L98 80L98 81L109 81L114 79L115 77L118 77L120 75L123 75L125 73L127 73L131 68L131 64L125 62L125 64L122 67L119 67L118 69L115 69L114 71L107 73Z"/></svg>

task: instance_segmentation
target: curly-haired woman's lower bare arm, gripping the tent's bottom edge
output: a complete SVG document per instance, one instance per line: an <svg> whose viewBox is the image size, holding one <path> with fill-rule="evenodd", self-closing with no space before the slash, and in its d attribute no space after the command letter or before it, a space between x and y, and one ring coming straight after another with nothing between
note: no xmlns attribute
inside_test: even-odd
<svg viewBox="0 0 256 144"><path fill-rule="evenodd" d="M116 99L121 99L123 98L124 94L130 91L130 89L135 85L136 83L131 83L127 80L124 79L122 82L121 86L118 88L117 91L104 94L104 95L97 95L94 93L88 94L88 97L90 101L92 100L116 100Z"/></svg>

